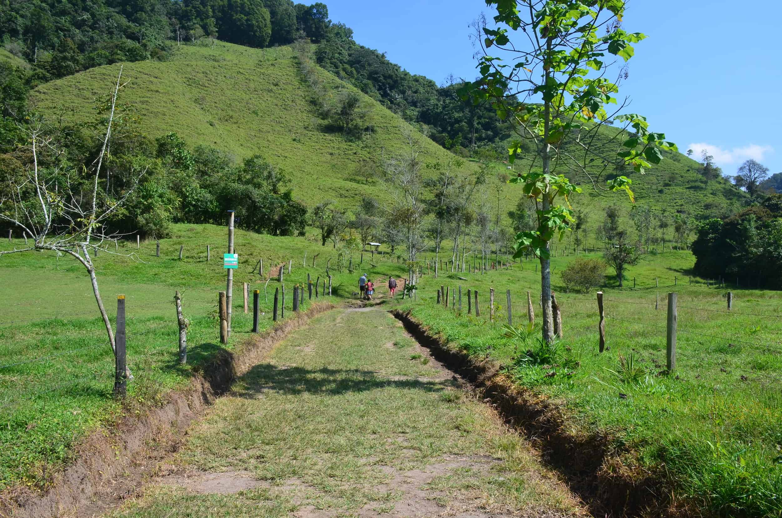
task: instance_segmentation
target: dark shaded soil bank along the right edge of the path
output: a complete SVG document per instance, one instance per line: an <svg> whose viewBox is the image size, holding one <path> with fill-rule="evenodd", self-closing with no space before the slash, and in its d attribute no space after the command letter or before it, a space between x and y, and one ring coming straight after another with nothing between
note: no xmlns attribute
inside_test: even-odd
<svg viewBox="0 0 782 518"><path fill-rule="evenodd" d="M450 347L409 312L392 313L421 345L474 383L508 423L533 441L543 460L562 473L594 516L701 516L697 509L673 501L661 473L628 467L634 464L630 452L614 451L608 437L576 432L561 408L511 383L496 362L481 362Z"/></svg>

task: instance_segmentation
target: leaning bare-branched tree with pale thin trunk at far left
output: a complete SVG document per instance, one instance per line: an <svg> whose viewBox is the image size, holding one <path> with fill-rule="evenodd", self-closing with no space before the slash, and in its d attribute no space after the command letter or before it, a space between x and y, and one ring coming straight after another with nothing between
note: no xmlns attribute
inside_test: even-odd
<svg viewBox="0 0 782 518"><path fill-rule="evenodd" d="M117 84L113 88L106 134L101 138L101 150L92 164L92 171L84 169L83 174L79 174L78 171L63 165L63 160L60 160L63 152L56 148L52 137L47 134L45 124L38 121L23 128L28 137L25 148L31 156L30 165L23 173L7 178L0 189L0 220L9 222L25 236L32 238L31 243L24 248L0 251L0 257L33 251L50 251L58 257L74 257L84 266L90 277L92 293L95 294L95 301L109 336L109 344L115 353L114 333L109 315L103 306L91 253L98 250L105 241L115 241L123 237L108 232L106 225L145 173L137 171L138 174L134 175L129 187L117 199L109 199L98 189L106 147L111 138L117 95L120 89L127 85L120 84L121 79L120 67ZM53 165L43 165L41 156L44 153L53 156L53 160L49 160ZM139 261L136 254L105 251L107 254L123 255ZM127 376L131 377L130 369L127 369Z"/></svg>

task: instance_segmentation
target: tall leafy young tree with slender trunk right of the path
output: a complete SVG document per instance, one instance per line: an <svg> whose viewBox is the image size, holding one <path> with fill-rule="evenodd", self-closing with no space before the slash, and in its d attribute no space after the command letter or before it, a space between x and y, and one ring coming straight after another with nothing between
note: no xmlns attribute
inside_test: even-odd
<svg viewBox="0 0 782 518"><path fill-rule="evenodd" d="M497 10L496 29L482 20L477 42L483 56L480 77L463 88L475 104L489 102L500 119L508 121L517 140L509 149L511 163L521 156L526 173L511 182L521 183L525 196L539 203L538 227L516 236L515 257L532 250L540 259L543 298L543 340L554 340L551 316L550 244L571 228L573 217L569 196L580 192L560 167L589 178L595 189L623 189L632 200L630 179L619 176L601 185L601 175L618 156L638 173L662 160L662 149L676 149L665 135L649 131L647 121L637 114L609 114L606 106L617 103L620 78L608 79L610 54L627 61L633 44L644 34L622 29L623 0L487 0ZM518 41L511 42L516 32ZM494 51L496 49L496 52ZM493 55L490 55L493 52ZM510 56L512 64L506 63ZM619 105L619 110L626 105ZM619 149L606 156L603 149L590 146L592 132L606 121L622 123L617 128ZM624 132L632 128L633 134ZM575 140L579 153L568 153L566 139ZM524 153L522 141L534 153ZM597 159L597 160L593 160ZM604 164L597 170L594 163ZM564 200L565 205L559 205Z"/></svg>

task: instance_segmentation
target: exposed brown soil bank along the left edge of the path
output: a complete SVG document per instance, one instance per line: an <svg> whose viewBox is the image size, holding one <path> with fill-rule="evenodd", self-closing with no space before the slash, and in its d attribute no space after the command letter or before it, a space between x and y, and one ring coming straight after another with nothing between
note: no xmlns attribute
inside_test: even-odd
<svg viewBox="0 0 782 518"><path fill-rule="evenodd" d="M217 354L186 389L167 394L165 405L126 417L111 429L94 430L74 448L76 461L54 477L44 494L24 488L0 494L0 516L94 516L134 494L155 459L178 448L188 425L215 397L288 333L332 308L333 304L314 304L295 318L250 336L239 351Z"/></svg>

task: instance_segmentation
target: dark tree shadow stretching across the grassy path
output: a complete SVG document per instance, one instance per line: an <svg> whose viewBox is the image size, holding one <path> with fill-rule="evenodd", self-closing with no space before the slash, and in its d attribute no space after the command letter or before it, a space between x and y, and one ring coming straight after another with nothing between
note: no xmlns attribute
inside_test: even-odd
<svg viewBox="0 0 782 518"><path fill-rule="evenodd" d="M265 391L274 390L281 394L328 394L382 389L386 387L439 392L454 386L453 380L431 381L389 380L376 372L360 369L304 369L302 367L280 367L268 363L255 365L239 378L234 394L247 399L256 399Z"/></svg>

